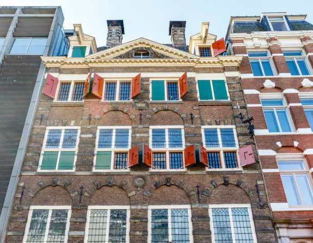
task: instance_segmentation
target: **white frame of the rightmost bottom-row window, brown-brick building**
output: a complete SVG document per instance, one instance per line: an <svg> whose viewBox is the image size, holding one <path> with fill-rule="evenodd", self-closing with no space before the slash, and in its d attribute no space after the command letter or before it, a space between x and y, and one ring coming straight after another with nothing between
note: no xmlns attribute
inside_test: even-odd
<svg viewBox="0 0 313 243"><path fill-rule="evenodd" d="M212 213L213 208L228 208L233 243L236 243L236 238L235 238L232 208L247 208L248 214L249 214L249 219L250 219L253 242L257 243L257 237L256 237L254 221L253 221L253 214L252 214L252 210L251 210L251 204L209 204L209 217L210 217L210 228L211 228L211 232L212 232L212 234L211 234L212 242L215 242L213 213Z"/></svg>

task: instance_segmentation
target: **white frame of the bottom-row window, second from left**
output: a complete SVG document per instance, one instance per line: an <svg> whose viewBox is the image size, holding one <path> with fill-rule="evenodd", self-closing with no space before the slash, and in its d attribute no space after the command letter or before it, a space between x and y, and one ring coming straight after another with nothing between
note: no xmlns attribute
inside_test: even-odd
<svg viewBox="0 0 313 243"><path fill-rule="evenodd" d="M88 231L90 224L90 214L91 210L107 210L107 220L106 220L106 231L105 231L105 242L108 242L109 235L109 222L110 222L110 211L111 209L124 209L127 210L126 217L126 243L129 242L129 231L130 231L130 206L88 206L87 210L87 220L85 225L85 237L84 243L88 242Z"/></svg>

